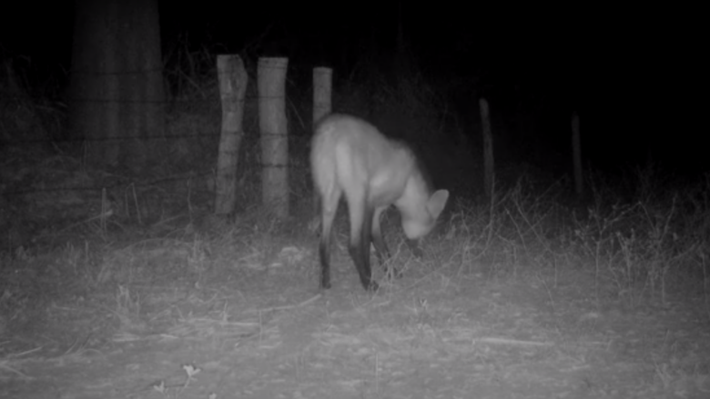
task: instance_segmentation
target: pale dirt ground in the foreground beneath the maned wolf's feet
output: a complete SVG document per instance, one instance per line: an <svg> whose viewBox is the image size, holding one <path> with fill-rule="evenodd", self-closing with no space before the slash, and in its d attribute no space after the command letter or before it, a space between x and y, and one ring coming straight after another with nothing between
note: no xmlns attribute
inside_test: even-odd
<svg viewBox="0 0 710 399"><path fill-rule="evenodd" d="M580 265L463 264L446 248L401 254L404 277L378 270L368 294L342 247L321 292L314 248L106 250L96 286L113 288L65 285L2 321L0 397L710 397L702 294L629 299ZM5 297L83 251L35 255L49 265L5 274Z"/></svg>

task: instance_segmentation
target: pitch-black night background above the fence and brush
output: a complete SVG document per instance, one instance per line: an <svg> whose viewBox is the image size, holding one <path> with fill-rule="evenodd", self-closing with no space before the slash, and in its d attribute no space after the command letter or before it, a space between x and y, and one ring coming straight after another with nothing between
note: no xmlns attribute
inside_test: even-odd
<svg viewBox="0 0 710 399"><path fill-rule="evenodd" d="M2 16L2 51L26 56L31 83L63 76L71 2L12 7ZM652 159L684 175L710 165L701 14L699 8L651 5L402 5L416 67L435 87L445 87L472 135L479 135L477 101L484 96L493 116L508 123L515 122L515 109L533 115L529 136L507 137L509 147L532 144L539 159L569 164L569 121L577 110L583 156L594 167L613 171ZM332 65L337 82L361 55L378 55L378 65L391 65L398 5L163 1L160 22L164 48L178 37L216 54L259 43L256 55L285 55L294 67Z"/></svg>

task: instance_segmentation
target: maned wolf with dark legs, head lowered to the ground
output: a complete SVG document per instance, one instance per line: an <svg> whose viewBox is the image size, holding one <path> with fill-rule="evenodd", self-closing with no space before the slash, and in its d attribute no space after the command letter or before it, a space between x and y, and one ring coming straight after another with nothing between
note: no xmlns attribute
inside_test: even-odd
<svg viewBox="0 0 710 399"><path fill-rule="evenodd" d="M310 167L320 195L320 287L330 288L330 230L345 194L350 213L350 256L366 290L376 291L370 269L370 242L381 264L390 256L380 232L380 214L394 204L414 254L449 198L431 193L411 149L382 135L375 126L350 115L333 114L316 126Z"/></svg>

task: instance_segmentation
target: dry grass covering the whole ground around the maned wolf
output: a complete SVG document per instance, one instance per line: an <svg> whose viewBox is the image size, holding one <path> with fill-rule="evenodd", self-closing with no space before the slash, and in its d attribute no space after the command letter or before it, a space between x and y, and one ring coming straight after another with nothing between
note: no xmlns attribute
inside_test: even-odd
<svg viewBox="0 0 710 399"><path fill-rule="evenodd" d="M364 95L376 105L406 97L405 130L417 139L437 131L419 112L437 101L413 90L422 85L402 79ZM188 97L207 90L197 92ZM181 104L172 129L211 129L209 113ZM248 129L231 220L210 216L208 135L167 146L170 161L140 179L87 171L66 154L0 158L4 187L26 187L2 197L0 393L16 381L95 397L710 392L707 182L678 188L647 169L630 190L594 177L580 203L561 183L523 175L487 200L455 199L421 261L388 213L404 278L376 267L376 294L357 281L341 213L334 287L320 293L307 139L292 147L294 216L279 221L256 205L258 135Z"/></svg>

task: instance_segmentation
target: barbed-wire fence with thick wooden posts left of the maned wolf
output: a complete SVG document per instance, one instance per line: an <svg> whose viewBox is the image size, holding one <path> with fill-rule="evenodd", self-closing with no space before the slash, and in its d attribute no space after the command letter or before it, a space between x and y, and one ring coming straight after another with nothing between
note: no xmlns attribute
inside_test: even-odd
<svg viewBox="0 0 710 399"><path fill-rule="evenodd" d="M216 64L215 62L214 65ZM311 132L309 121L311 114L309 106L299 107L299 105L307 105L311 102L313 68L299 67L298 65L287 66L286 68L289 70L289 75L287 76L286 98L282 98L260 96L257 93L258 85L257 79L255 78L255 76L258 75L256 73L256 65L258 65L258 63L249 63L248 65L249 87L243 104L241 104L241 106L244 107L244 132L240 146L238 174L258 176L260 168L264 166L274 166L262 165L259 156L259 140L262 137L279 134L259 131L259 116L256 115L257 107L255 105L257 105L260 100L273 100L278 98L285 102L287 117L289 119L288 138L290 164L286 167L298 170L299 175L307 175L308 145ZM102 73L102 75L145 75L155 73L158 70L166 72L163 68L155 68L140 71L109 72ZM75 75L99 75L99 73L86 71L73 71L73 73ZM174 171L170 170L170 167L166 167L165 170L162 171L162 175L154 174L143 177L142 179L138 179L135 175L114 175L110 179L97 179L96 185L91 186L71 185L40 187L39 185L33 185L32 188L29 188L27 186L11 184L3 185L3 187L0 188L0 193L2 195L26 195L35 192L52 193L66 190L96 192L105 188L119 188L131 184L160 185L186 182L189 179L196 178L211 178L209 175L214 173L218 156L218 139L221 135L221 103L218 91L218 73L216 68L210 71L209 74L205 75L211 76L207 77L208 80L205 80L201 84L195 83L193 85L194 90L186 92L185 95L169 95L170 91L168 90L166 93L169 98L165 101L96 97L71 100L71 103L76 104L77 101L91 102L99 107L106 104L162 105L166 110L166 129L164 132L157 135L121 135L117 137L73 137L71 135L56 135L56 137L51 137L50 135L23 135L25 132L21 129L16 129L16 132L12 132L14 134L0 135L0 154L7 153L13 148L19 148L19 151L22 152L25 145L69 145L69 147L74 148L74 160L78 161L79 164L81 164L82 159L80 156L86 155L86 148L90 148L91 145L99 143L112 145L121 142L137 142L146 145L148 148L150 148L151 145L157 145L157 147L154 148L157 148L158 151L162 151L163 153L167 152L166 147L175 145L182 147L183 152L187 151L192 155L198 152L200 155L198 156L198 161L193 159L193 164L184 165L184 163L181 163L180 151L176 151L177 155L174 161L175 164L177 164L175 166L180 171L179 175L175 175ZM166 75L167 74L164 74L164 76ZM165 77L164 81L166 81L166 87L171 85L170 78ZM3 93L0 95L0 118L3 113L7 114L11 112L9 108L13 103L24 103L28 104L28 106L32 106L33 99L34 97L29 95ZM35 113L41 114L45 111L56 112L57 110L59 110L59 113L66 113L66 104L55 102L54 105L54 109L52 109L52 105L46 106L45 108L37 107ZM191 142L192 140L197 140L196 143L202 143L202 145L191 145L190 143L193 143ZM188 143L181 143L180 141ZM186 148L187 150L185 150ZM80 153L80 150L84 153ZM30 163L31 161L32 160L30 160ZM161 159L161 161L169 163L169 159ZM3 163L4 161L0 159L0 165ZM67 172L71 169L86 171L86 165L67 166ZM166 175L168 177L166 177ZM301 178L300 180L303 179ZM0 184L1 183L0 181ZM49 183L56 184L57 182Z"/></svg>

